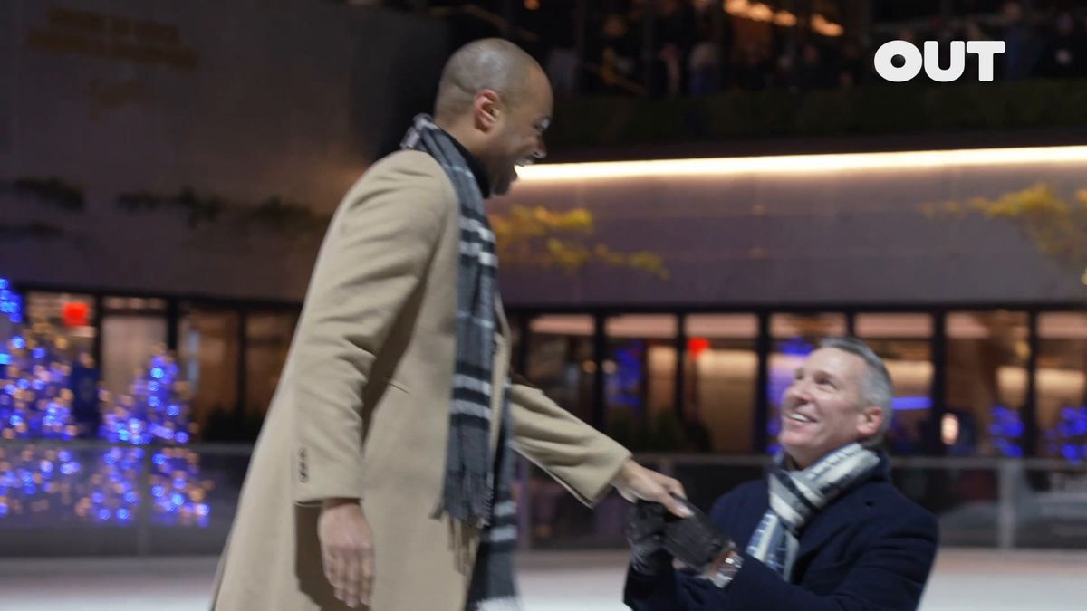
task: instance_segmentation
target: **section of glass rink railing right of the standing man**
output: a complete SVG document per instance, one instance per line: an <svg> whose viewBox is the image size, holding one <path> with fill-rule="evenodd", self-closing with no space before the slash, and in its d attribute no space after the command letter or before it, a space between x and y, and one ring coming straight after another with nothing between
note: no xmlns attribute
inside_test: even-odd
<svg viewBox="0 0 1087 611"><path fill-rule="evenodd" d="M734 486L763 477L764 457L642 454L638 460L677 477L692 502L709 509ZM905 495L939 519L941 544L960 547L1087 549L1087 465L1046 459L894 458L891 476ZM609 497L580 508L532 467L522 509L522 545L536 548L619 547L626 503Z"/></svg>

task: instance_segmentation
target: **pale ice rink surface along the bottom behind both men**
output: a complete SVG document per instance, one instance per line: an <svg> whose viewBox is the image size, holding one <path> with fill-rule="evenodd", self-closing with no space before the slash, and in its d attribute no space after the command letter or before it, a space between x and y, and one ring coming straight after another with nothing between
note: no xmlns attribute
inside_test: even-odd
<svg viewBox="0 0 1087 611"><path fill-rule="evenodd" d="M625 556L530 552L518 560L528 611L621 610ZM4 611L205 611L214 558L0 561ZM1084 611L1087 551L947 549L924 611Z"/></svg>

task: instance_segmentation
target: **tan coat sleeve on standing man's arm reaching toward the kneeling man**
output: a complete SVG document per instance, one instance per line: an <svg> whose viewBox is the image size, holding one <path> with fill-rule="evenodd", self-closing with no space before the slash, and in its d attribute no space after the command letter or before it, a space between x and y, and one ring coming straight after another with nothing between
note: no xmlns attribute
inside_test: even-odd
<svg viewBox="0 0 1087 611"><path fill-rule="evenodd" d="M560 408L538 388L514 384L510 410L517 452L585 504L595 504L608 494L620 467L630 458L626 448Z"/></svg>

